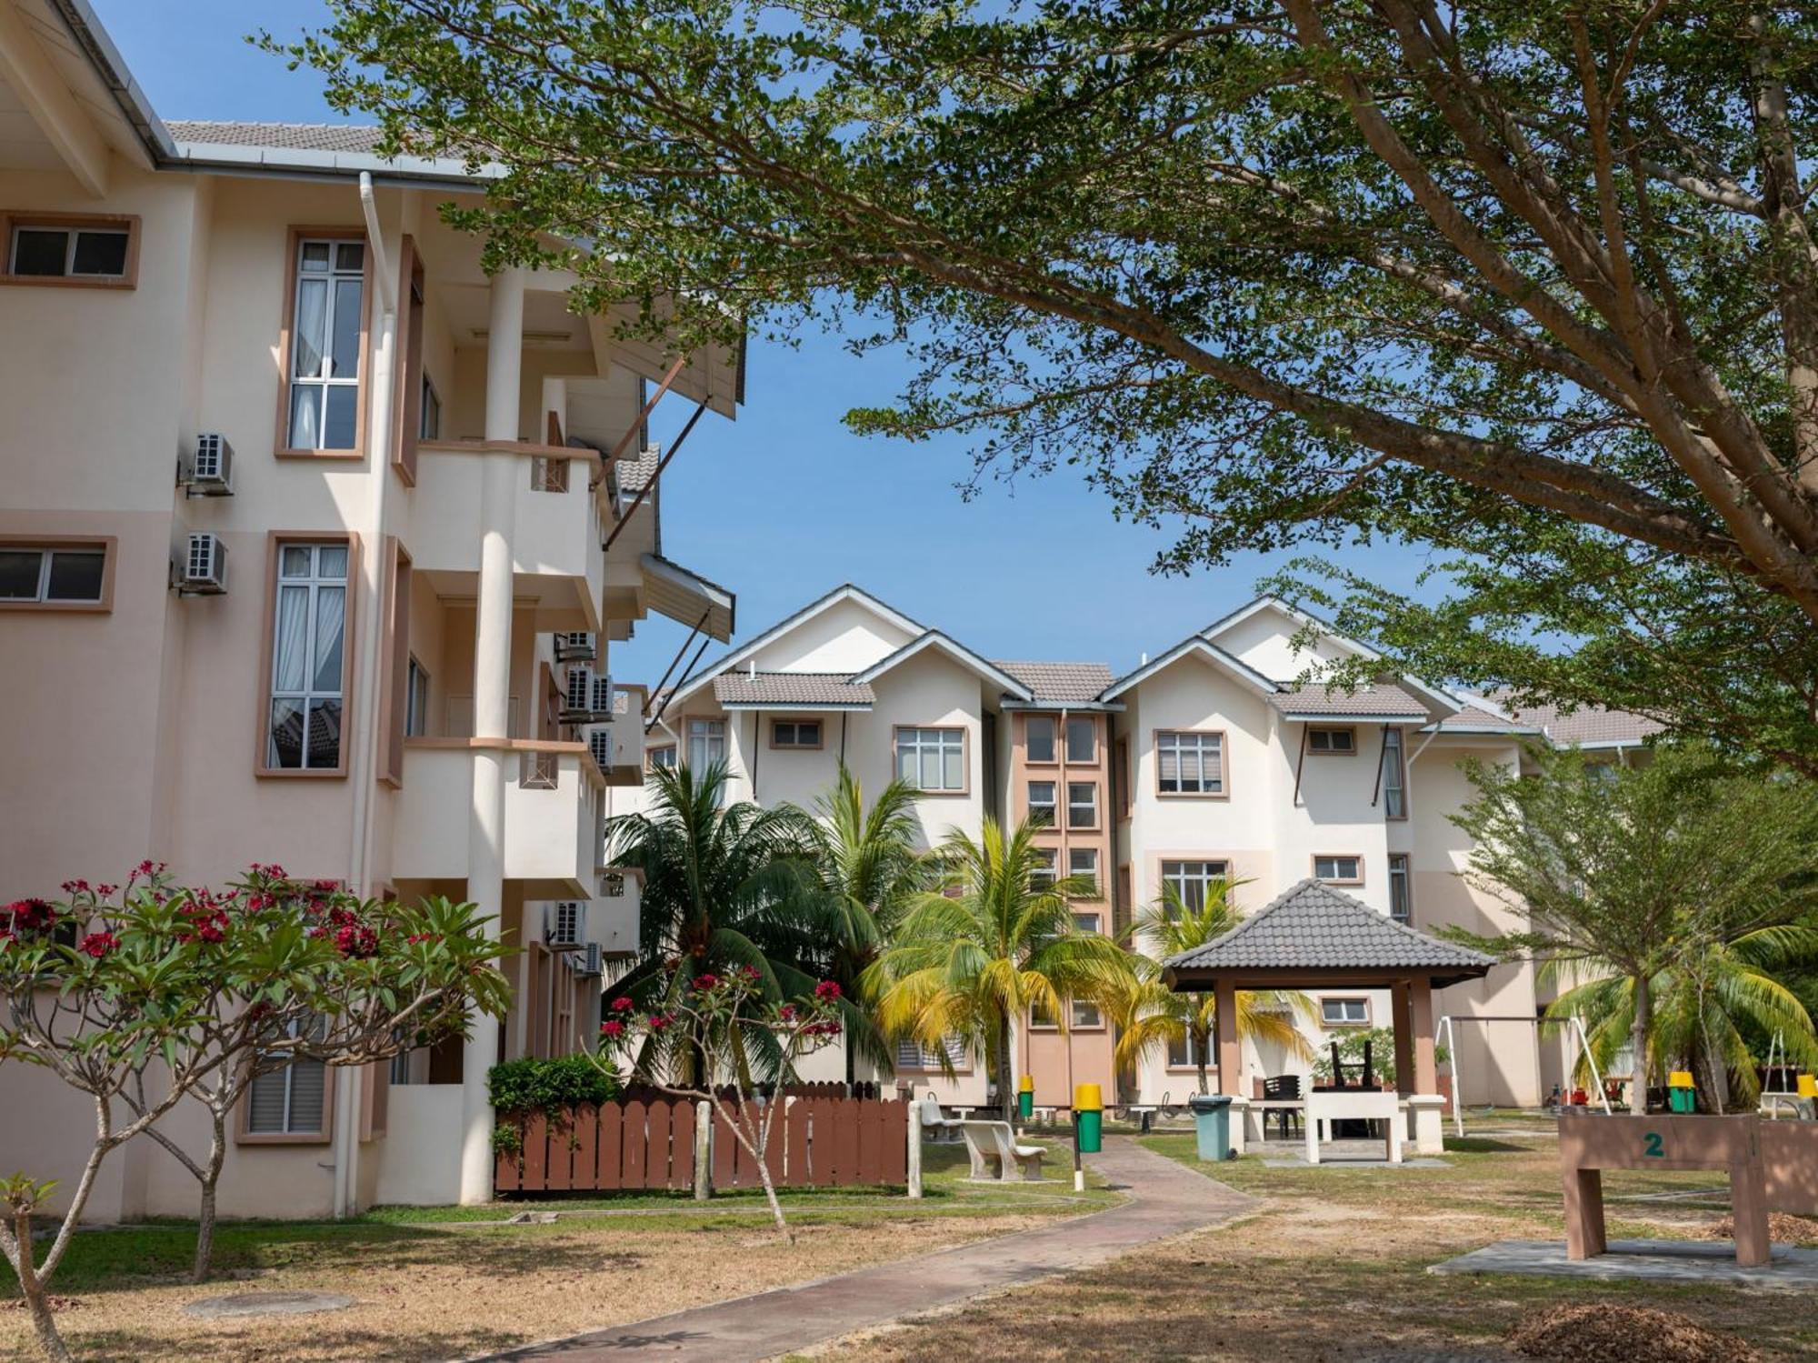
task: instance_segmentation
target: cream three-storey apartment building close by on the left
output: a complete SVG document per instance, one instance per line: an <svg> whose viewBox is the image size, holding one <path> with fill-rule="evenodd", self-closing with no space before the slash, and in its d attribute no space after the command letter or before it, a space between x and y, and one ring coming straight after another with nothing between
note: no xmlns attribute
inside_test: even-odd
<svg viewBox="0 0 1818 1363"><path fill-rule="evenodd" d="M664 556L664 398L733 416L736 353L674 356L487 273L442 204L485 174L356 127L158 118L84 0L0 0L0 894L251 861L474 900L527 950L509 1020L365 1072L262 1079L229 1214L491 1194L485 1072L596 1027L636 940L600 865L644 780L647 616L733 596ZM65 1176L87 1099L0 1070L9 1169ZM169 1127L205 1149L200 1109ZM189 1214L156 1145L93 1216Z"/></svg>

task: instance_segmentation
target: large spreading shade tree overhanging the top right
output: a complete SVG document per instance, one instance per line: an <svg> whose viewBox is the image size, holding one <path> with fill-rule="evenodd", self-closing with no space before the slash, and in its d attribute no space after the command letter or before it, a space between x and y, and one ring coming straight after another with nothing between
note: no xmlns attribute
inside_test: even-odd
<svg viewBox="0 0 1818 1363"><path fill-rule="evenodd" d="M284 51L504 167L493 264L722 340L856 305L920 360L860 429L1074 463L1164 567L1436 545L1443 602L1296 582L1818 771L1807 7L331 0Z"/></svg>

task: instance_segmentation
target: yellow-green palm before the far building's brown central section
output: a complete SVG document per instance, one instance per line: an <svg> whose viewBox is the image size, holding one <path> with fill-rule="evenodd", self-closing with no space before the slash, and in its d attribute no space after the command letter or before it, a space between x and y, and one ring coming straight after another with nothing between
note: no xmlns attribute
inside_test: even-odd
<svg viewBox="0 0 1818 1363"><path fill-rule="evenodd" d="M1005 834L985 818L974 841L958 829L934 851L940 889L916 894L894 941L864 972L885 1036L945 1054L949 1036L984 1049L1004 1119L1014 1116L1014 1020L1031 1007L1062 1020L1064 1000L1107 1007L1129 989L1124 949L1073 921L1089 878L1040 883L1038 825ZM1036 883L1031 881L1036 878Z"/></svg>

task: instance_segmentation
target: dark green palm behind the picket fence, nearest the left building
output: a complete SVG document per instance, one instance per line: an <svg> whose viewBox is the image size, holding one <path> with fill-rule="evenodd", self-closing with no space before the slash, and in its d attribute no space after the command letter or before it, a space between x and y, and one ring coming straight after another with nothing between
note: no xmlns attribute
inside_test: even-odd
<svg viewBox="0 0 1818 1363"><path fill-rule="evenodd" d="M807 994L825 978L827 943L840 910L813 869L813 829L794 809L724 805L725 767L694 772L658 767L651 807L607 821L607 860L644 872L638 961L614 985L651 1010L680 1003L689 983L714 970L751 967L765 998ZM678 1036L667 1063L678 1079L702 1079L696 1038ZM754 1056L776 1072L774 1038L749 1027L733 1045L742 1067ZM740 1076L749 1083L751 1074Z"/></svg>

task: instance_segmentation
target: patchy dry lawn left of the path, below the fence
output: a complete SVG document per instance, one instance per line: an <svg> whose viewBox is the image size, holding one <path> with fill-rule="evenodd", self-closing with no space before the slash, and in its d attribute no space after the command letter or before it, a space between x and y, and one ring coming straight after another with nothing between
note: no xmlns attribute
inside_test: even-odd
<svg viewBox="0 0 1818 1363"><path fill-rule="evenodd" d="M1096 1210L1102 1185L1073 1196L1064 1150L1054 1183L964 1183L964 1147L924 1147L920 1203L884 1190L785 1198L798 1243L782 1245L762 1194L687 1199L513 1201L482 1209L376 1209L327 1221L233 1221L215 1239L218 1281L182 1281L195 1227L156 1221L76 1236L53 1290L78 1358L445 1359L527 1339L660 1316L729 1296L1007 1234ZM522 1210L554 1223L504 1225ZM569 1214L573 1212L573 1214ZM874 1234L889 1225L889 1234ZM236 1290L322 1290L358 1305L324 1316L198 1321L187 1301ZM0 1267L0 1358L35 1358L18 1288Z"/></svg>

